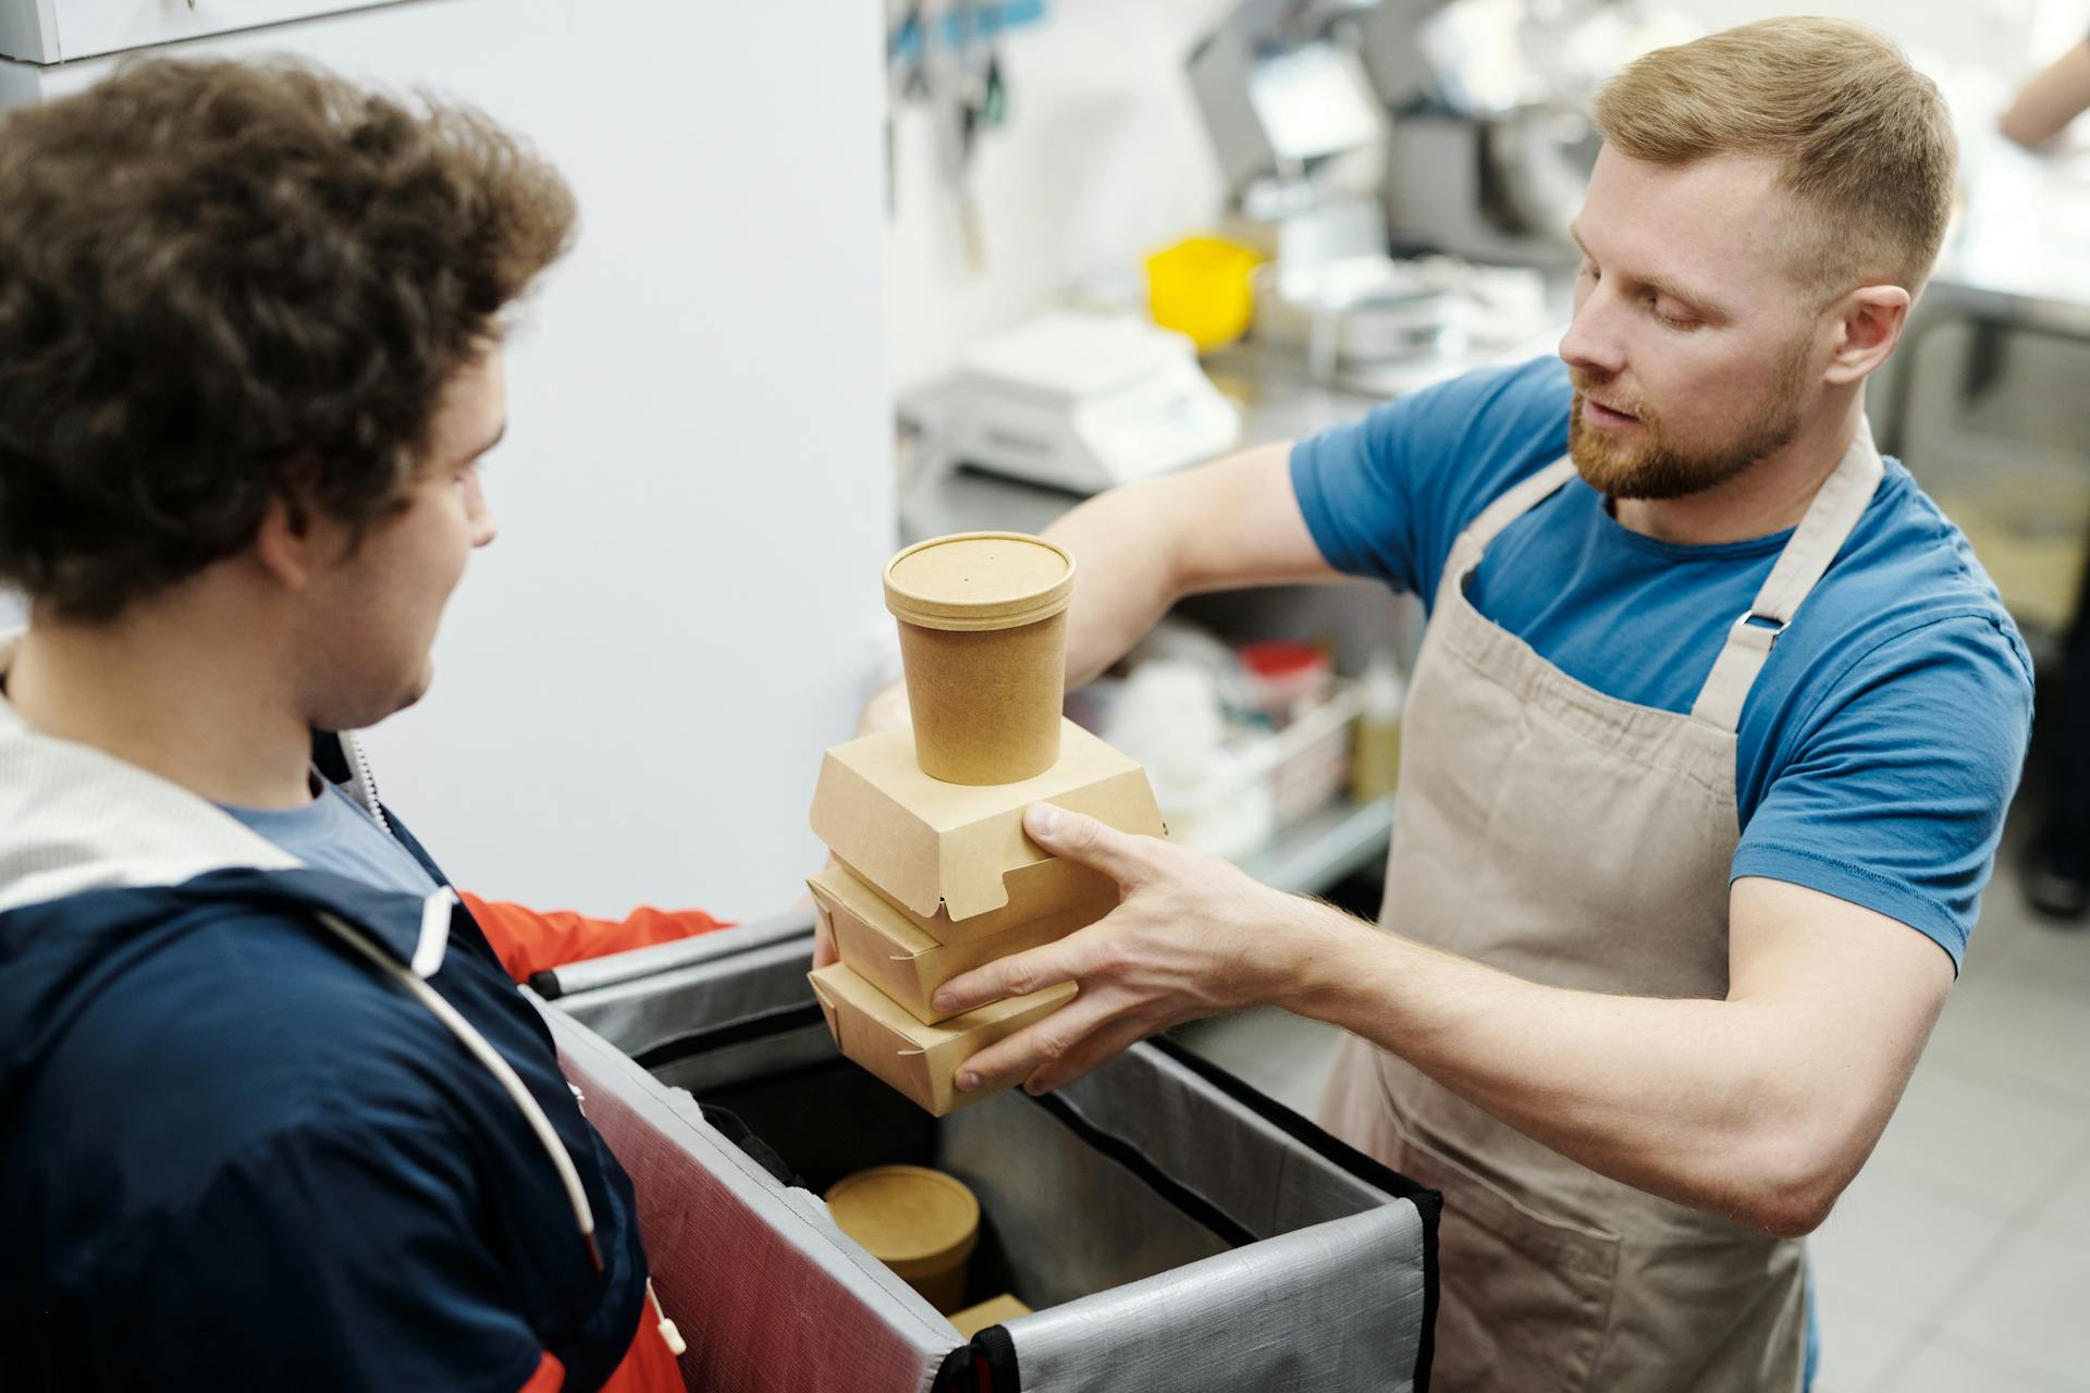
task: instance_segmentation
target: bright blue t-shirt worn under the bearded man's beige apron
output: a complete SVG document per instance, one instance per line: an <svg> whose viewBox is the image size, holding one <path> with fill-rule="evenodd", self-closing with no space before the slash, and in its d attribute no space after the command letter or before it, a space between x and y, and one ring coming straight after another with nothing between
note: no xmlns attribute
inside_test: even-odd
<svg viewBox="0 0 2090 1393"><path fill-rule="evenodd" d="M1559 359L1469 374L1300 441L1321 553L1434 604L1459 533L1568 451ZM1689 712L1791 533L1682 547L1580 478L1511 522L1467 595L1607 695ZM1952 954L1979 913L2031 731L2031 660L1973 549L1894 459L1741 710L1731 877L1900 919Z"/></svg>

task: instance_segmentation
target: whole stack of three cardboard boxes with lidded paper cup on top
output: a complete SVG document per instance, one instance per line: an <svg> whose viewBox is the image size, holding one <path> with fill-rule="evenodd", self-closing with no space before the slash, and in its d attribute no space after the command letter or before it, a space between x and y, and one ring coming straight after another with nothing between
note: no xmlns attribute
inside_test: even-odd
<svg viewBox="0 0 2090 1393"><path fill-rule="evenodd" d="M838 865L809 886L842 957L813 992L836 1046L938 1117L999 1090L959 1094L959 1063L1066 1005L1074 984L953 1017L930 1005L936 988L1118 902L1110 877L1030 842L1024 808L1164 831L1139 764L1060 716L1072 591L1074 560L1016 533L892 558L911 729L828 750L813 794L813 831Z"/></svg>

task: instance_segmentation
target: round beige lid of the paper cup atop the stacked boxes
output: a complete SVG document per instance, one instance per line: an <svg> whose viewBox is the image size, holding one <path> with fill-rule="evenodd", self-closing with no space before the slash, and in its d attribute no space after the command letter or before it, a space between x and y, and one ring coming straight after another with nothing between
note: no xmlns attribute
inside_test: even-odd
<svg viewBox="0 0 2090 1393"><path fill-rule="evenodd" d="M1016 629L1074 593L1074 558L1024 533L955 533L886 562L886 608L922 629Z"/></svg>

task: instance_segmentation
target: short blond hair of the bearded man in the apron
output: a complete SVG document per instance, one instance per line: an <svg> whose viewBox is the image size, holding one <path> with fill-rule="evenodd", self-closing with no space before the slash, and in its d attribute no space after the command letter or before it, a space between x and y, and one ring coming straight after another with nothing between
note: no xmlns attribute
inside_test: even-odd
<svg viewBox="0 0 2090 1393"><path fill-rule="evenodd" d="M1628 65L1597 96L1603 138L1636 161L1772 159L1797 203L1795 278L1825 297L1910 294L1952 215L1958 142L1937 86L1841 19L1764 19Z"/></svg>

